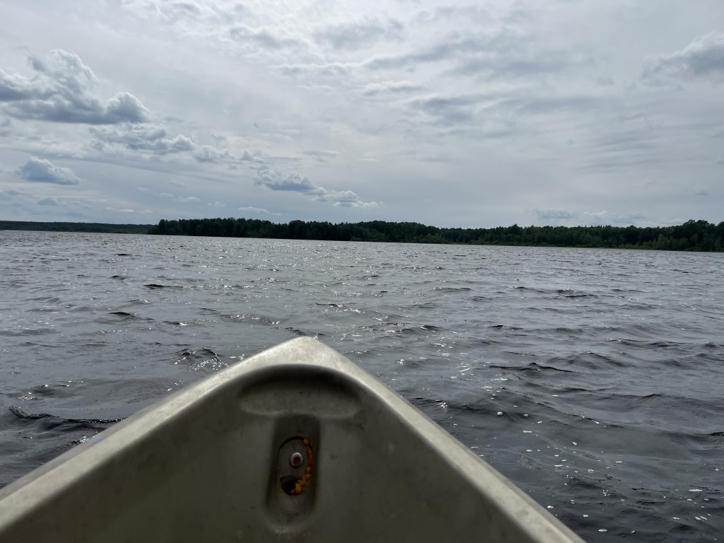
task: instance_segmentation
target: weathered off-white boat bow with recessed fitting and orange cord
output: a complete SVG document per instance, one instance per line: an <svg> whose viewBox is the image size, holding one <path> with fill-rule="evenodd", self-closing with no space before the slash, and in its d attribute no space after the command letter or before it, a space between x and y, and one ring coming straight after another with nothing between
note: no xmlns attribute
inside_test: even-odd
<svg viewBox="0 0 724 543"><path fill-rule="evenodd" d="M2 542L581 542L402 397L300 338L0 490Z"/></svg>

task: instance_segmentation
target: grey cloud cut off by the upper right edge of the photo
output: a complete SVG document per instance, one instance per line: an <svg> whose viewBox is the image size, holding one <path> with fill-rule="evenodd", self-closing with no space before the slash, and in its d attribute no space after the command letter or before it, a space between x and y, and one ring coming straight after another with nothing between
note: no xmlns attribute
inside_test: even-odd
<svg viewBox="0 0 724 543"><path fill-rule="evenodd" d="M647 83L662 79L724 79L724 33L702 35L680 51L650 59L642 75Z"/></svg>

